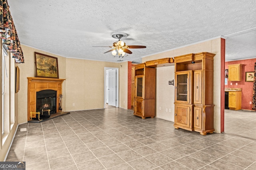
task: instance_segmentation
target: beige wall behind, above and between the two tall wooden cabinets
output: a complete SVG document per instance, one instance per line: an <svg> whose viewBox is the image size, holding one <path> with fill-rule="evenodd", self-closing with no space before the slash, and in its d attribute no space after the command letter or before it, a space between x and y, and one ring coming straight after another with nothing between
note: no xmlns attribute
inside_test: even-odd
<svg viewBox="0 0 256 170"><path fill-rule="evenodd" d="M142 63L144 63L150 60L176 57L189 53L214 53L214 129L217 133L220 133L220 41L221 38L216 38L142 58ZM171 85L166 85L169 80L174 79L174 68L170 67L172 66L156 69L156 117L174 121L174 98L171 97L174 96L174 88ZM168 108L167 112L166 108ZM169 108L171 108L171 112L169 112Z"/></svg>

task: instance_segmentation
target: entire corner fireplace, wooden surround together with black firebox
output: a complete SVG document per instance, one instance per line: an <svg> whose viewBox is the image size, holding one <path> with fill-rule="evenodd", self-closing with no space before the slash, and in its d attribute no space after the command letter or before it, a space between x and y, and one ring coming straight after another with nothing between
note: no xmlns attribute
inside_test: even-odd
<svg viewBox="0 0 256 170"><path fill-rule="evenodd" d="M28 121L30 112L40 112L44 116L62 112L62 108L58 107L62 95L62 82L65 79L58 78L40 78L28 77ZM40 115L41 116L41 115ZM36 115L32 115L36 118Z"/></svg>

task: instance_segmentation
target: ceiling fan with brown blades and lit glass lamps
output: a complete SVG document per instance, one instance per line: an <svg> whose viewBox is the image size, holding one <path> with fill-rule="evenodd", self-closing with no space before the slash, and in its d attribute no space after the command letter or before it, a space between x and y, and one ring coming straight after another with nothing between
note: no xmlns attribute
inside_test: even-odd
<svg viewBox="0 0 256 170"><path fill-rule="evenodd" d="M116 37L114 37L114 36L116 36ZM124 41L120 40L123 36L126 37L127 34L126 33L113 34L112 37L118 39L117 42L113 43L113 46L93 46L93 47L110 47L110 48L113 48L111 50L106 51L105 53L109 53L110 51L112 51L113 57L118 56L119 58L120 57L123 58L125 53L132 54L132 51L130 51L129 49L143 49L143 48L146 48L146 46L143 46L143 45L126 45L124 43ZM118 53L118 55L116 55L117 53Z"/></svg>

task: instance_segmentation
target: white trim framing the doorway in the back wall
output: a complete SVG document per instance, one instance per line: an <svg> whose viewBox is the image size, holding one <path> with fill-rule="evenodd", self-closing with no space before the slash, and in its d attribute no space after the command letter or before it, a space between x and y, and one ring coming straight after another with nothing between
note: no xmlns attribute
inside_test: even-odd
<svg viewBox="0 0 256 170"><path fill-rule="evenodd" d="M116 107L119 107L119 68L115 67L104 67L104 108L106 108L106 72L107 70L116 70Z"/></svg>

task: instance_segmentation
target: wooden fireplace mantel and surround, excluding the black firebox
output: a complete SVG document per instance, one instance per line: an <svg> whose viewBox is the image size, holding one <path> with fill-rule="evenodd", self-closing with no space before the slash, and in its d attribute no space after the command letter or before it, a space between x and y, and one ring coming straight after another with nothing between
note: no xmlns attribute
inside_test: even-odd
<svg viewBox="0 0 256 170"><path fill-rule="evenodd" d="M41 77L28 77L28 121L30 119L30 111L36 112L36 92L41 90L55 90L57 105L62 94L62 82L66 79L59 78L41 78ZM57 113L61 112L56 106Z"/></svg>

